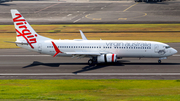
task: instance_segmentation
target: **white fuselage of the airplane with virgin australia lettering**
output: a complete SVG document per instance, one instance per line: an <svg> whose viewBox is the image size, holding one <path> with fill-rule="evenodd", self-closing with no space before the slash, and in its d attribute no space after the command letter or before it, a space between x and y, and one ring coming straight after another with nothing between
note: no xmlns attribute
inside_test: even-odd
<svg viewBox="0 0 180 101"><path fill-rule="evenodd" d="M154 41L131 41L131 40L46 40L33 44L34 49L27 45L18 46L31 49L40 53L54 55L56 53L51 41L53 41L62 52L99 52L116 54L118 58L162 58L175 54L173 48L168 45ZM57 56L72 56L71 54L59 53Z"/></svg>

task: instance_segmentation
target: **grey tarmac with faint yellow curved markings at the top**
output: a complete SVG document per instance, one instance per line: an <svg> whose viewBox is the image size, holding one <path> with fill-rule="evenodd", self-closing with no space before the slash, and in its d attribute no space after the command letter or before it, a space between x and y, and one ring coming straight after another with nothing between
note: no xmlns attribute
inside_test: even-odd
<svg viewBox="0 0 180 101"><path fill-rule="evenodd" d="M180 1L13 1L0 4L0 24L13 24L10 9L19 10L30 24L180 23Z"/></svg>

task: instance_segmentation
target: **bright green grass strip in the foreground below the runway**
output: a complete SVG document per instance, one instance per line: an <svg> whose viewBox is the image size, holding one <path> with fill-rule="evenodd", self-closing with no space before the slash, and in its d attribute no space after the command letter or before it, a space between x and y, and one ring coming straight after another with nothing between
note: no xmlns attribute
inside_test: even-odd
<svg viewBox="0 0 180 101"><path fill-rule="evenodd" d="M0 100L179 101L180 80L0 80Z"/></svg>

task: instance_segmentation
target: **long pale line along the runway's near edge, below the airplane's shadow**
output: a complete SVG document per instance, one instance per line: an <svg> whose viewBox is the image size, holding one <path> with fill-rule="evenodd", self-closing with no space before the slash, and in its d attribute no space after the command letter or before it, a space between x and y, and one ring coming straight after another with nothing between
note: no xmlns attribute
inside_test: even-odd
<svg viewBox="0 0 180 101"><path fill-rule="evenodd" d="M99 76L99 75L119 75L119 76L173 76L173 75L180 75L180 73L0 73L0 76L61 76L61 75L86 75L86 76Z"/></svg>

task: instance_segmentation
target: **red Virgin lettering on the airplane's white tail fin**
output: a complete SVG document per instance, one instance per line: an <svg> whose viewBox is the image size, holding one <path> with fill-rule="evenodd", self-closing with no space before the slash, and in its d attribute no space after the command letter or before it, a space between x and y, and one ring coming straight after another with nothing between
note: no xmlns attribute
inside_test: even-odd
<svg viewBox="0 0 180 101"><path fill-rule="evenodd" d="M22 29L22 31L20 32L18 29L16 29L16 32L19 33L19 35L17 35L17 37L24 37L24 39L26 39L27 43L31 46L31 48L34 49L34 47L32 46L33 43L37 43L36 41L36 37L37 34L33 35L31 33L31 31L27 28L26 26L26 20L25 19L21 19L21 14L16 13L15 14L17 17L15 17L13 19L15 23L15 25L17 25L19 27L19 29Z"/></svg>

